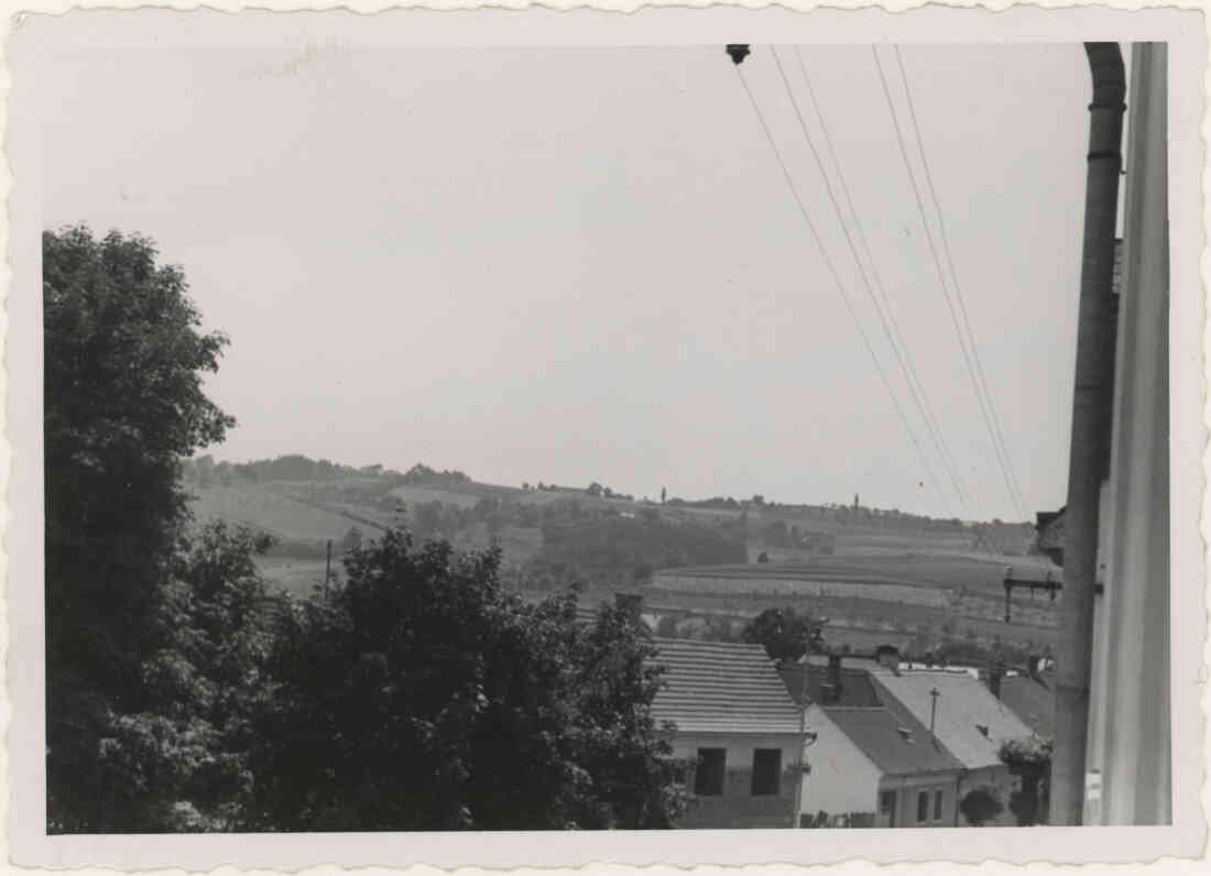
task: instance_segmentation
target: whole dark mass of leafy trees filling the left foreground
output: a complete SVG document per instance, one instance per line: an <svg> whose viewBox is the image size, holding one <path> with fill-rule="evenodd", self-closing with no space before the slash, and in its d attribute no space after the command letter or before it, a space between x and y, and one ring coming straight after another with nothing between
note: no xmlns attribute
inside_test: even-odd
<svg viewBox="0 0 1211 876"><path fill-rule="evenodd" d="M507 594L498 552L402 531L351 529L344 584L271 597L266 537L186 532L179 460L231 420L179 271L82 227L44 264L48 831L673 824L644 628L586 629L570 595Z"/></svg>

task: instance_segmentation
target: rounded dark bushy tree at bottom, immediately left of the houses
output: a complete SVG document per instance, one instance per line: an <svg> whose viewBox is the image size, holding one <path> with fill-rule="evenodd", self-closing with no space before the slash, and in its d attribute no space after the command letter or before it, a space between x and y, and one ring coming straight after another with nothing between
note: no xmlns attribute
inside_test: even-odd
<svg viewBox="0 0 1211 876"><path fill-rule="evenodd" d="M667 828L683 806L655 732L645 628L575 597L528 605L499 551L345 558L281 617L251 825L271 830Z"/></svg>

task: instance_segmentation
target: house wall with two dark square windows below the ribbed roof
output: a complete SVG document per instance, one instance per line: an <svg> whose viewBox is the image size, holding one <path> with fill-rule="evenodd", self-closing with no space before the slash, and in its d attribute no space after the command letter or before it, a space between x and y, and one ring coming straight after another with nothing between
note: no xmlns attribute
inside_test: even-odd
<svg viewBox="0 0 1211 876"><path fill-rule="evenodd" d="M673 756L685 772L694 803L679 828L791 828L799 737L677 733Z"/></svg>

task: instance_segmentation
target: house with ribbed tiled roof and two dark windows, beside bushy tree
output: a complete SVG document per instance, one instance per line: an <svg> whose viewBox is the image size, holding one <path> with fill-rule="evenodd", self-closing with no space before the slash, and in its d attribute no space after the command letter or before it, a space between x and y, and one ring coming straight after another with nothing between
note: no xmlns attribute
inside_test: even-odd
<svg viewBox="0 0 1211 876"><path fill-rule="evenodd" d="M664 667L652 704L695 801L683 828L791 828L803 715L761 645L653 639Z"/></svg>

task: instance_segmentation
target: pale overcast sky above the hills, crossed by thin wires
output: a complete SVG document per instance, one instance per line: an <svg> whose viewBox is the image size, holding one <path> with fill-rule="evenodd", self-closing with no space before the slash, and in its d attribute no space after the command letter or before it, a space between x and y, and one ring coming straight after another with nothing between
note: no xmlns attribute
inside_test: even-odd
<svg viewBox="0 0 1211 876"><path fill-rule="evenodd" d="M796 50L779 52L823 150ZM871 47L802 57L966 513L769 46L742 73L936 488L722 46L391 50L360 46L356 30L300 42L283 28L263 50L46 53L30 86L44 224L142 232L184 269L206 325L231 338L210 381L239 420L220 459L424 461L637 496L857 492L1018 519ZM895 54L879 57L916 149ZM902 57L1026 509L1057 508L1084 53L906 45Z"/></svg>

